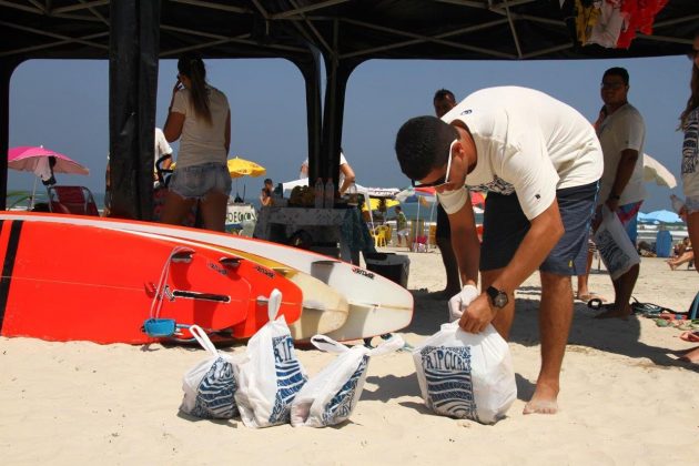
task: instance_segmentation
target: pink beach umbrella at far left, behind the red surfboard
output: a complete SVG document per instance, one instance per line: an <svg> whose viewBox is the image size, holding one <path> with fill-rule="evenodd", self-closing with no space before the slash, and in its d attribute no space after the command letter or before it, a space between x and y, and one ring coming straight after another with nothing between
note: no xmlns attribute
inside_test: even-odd
<svg viewBox="0 0 699 466"><path fill-rule="evenodd" d="M50 159L53 158L55 164L51 169ZM44 149L43 146L21 145L11 148L8 151L8 168L24 172L32 172L42 181L51 180L53 173L68 174L90 174L90 169L81 165L68 155ZM54 183L55 180L52 180ZM31 193L31 202L29 209L34 206L34 195L37 193L37 179Z"/></svg>

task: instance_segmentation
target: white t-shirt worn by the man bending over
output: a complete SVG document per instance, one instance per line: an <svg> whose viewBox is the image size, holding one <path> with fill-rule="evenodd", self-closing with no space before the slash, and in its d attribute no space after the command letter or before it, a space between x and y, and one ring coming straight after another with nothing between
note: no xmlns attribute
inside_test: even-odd
<svg viewBox="0 0 699 466"><path fill-rule="evenodd" d="M473 135L477 163L466 185L516 193L531 220L556 190L599 180L602 153L592 125L577 110L543 92L517 87L474 92L442 120L462 121ZM466 203L466 190L438 194L447 213Z"/></svg>

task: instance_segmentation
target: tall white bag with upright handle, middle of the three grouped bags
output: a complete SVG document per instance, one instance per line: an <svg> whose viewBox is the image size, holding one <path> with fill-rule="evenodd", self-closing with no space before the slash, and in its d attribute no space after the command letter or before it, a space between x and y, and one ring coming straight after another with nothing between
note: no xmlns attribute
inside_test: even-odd
<svg viewBox="0 0 699 466"><path fill-rule="evenodd" d="M270 295L270 322L247 342L245 358L234 366L235 402L247 427L269 427L290 422L291 404L306 383L306 373L294 353L284 316L275 318L282 293Z"/></svg>

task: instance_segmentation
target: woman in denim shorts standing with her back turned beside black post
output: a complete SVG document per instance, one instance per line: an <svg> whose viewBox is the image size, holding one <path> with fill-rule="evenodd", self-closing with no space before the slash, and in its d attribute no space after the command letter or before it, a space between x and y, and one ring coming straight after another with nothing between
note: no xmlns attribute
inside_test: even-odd
<svg viewBox="0 0 699 466"><path fill-rule="evenodd" d="M231 145L229 101L206 83L201 58L182 57L178 71L163 132L169 142L180 140L180 151L161 219L163 223L182 224L199 202L204 227L222 232L231 192L226 166Z"/></svg>

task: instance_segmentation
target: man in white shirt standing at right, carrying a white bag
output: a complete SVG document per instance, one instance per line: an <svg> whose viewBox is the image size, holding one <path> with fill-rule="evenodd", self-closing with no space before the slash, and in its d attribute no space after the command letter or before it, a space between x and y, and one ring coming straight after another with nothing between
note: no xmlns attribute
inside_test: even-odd
<svg viewBox="0 0 699 466"><path fill-rule="evenodd" d="M636 246L636 219L644 199L644 118L628 102L629 73L624 68L605 71L601 82L601 99L605 102L605 119L597 133L605 154L605 172L599 182L597 217L601 221L601 207L606 205L625 226ZM597 315L599 318L626 318L631 314L631 293L638 278L639 264L614 280L615 302Z"/></svg>

